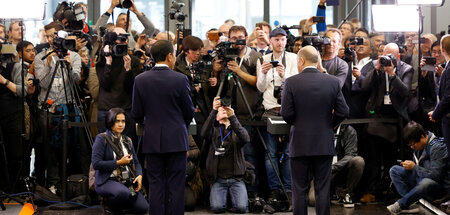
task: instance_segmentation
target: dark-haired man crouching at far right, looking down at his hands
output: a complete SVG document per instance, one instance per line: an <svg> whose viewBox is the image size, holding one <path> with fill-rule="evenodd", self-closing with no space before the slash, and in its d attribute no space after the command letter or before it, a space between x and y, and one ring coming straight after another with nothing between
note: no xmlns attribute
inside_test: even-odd
<svg viewBox="0 0 450 215"><path fill-rule="evenodd" d="M387 209L392 214L418 212L410 207L424 198L433 200L445 195L441 185L445 178L447 148L443 138L437 138L423 127L411 121L403 129L403 138L413 149L413 160L401 161L389 171L392 183L402 196Z"/></svg>

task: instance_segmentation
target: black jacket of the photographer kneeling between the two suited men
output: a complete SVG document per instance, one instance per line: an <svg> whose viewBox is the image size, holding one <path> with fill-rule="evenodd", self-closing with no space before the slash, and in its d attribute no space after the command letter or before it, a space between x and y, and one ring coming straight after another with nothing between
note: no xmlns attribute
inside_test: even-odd
<svg viewBox="0 0 450 215"><path fill-rule="evenodd" d="M219 125L216 121L217 111L212 110L205 121L202 128L202 137L211 140L211 144L216 147L220 146L220 131ZM235 115L229 118L230 126L232 129L231 135L225 139L224 145L233 144L234 151L227 151L227 153L233 153L233 174L235 176L243 176L245 173L245 158L244 158L244 145L250 142L250 136L244 127L239 123ZM210 181L214 181L217 177L217 166L219 163L219 156L215 155L215 147L211 145L209 147L208 157L206 158L206 174Z"/></svg>

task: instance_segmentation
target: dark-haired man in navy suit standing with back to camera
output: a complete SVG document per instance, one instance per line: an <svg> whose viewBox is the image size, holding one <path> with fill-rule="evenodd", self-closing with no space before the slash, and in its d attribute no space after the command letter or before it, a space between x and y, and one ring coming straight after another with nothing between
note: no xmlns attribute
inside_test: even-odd
<svg viewBox="0 0 450 215"><path fill-rule="evenodd" d="M144 124L150 214L183 214L187 126L194 117L186 75L174 72L175 52L167 40L151 49L155 67L134 82L132 113ZM167 195L167 196L166 196Z"/></svg>

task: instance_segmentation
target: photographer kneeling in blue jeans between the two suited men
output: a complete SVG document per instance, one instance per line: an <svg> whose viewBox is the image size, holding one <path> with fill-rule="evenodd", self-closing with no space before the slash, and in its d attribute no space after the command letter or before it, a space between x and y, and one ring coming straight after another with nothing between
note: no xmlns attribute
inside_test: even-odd
<svg viewBox="0 0 450 215"><path fill-rule="evenodd" d="M230 103L214 98L213 110L202 129L202 137L211 140L212 144L206 160L206 173L213 182L209 199L214 213L225 212L228 192L233 212L245 213L248 206L243 178L244 145L250 137L234 115Z"/></svg>

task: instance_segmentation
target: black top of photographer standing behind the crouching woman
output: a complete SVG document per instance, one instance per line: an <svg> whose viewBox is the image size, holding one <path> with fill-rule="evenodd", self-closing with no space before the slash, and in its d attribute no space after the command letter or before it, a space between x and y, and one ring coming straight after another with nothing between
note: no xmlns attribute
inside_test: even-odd
<svg viewBox="0 0 450 215"><path fill-rule="evenodd" d="M98 81L98 109L109 110L120 107L124 110L131 109L131 95L133 92L134 78L140 73L139 59L131 57L131 70L126 72L122 57L113 57L111 65L106 65L104 56L95 65Z"/></svg>

